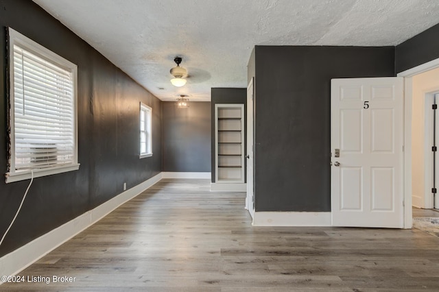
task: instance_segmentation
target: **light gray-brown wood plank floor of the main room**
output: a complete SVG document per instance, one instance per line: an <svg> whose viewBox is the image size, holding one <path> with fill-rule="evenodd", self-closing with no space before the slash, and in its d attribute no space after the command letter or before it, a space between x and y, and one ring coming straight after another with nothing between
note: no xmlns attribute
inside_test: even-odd
<svg viewBox="0 0 439 292"><path fill-rule="evenodd" d="M162 180L20 273L75 282L0 291L439 291L438 237L254 228L244 198Z"/></svg>

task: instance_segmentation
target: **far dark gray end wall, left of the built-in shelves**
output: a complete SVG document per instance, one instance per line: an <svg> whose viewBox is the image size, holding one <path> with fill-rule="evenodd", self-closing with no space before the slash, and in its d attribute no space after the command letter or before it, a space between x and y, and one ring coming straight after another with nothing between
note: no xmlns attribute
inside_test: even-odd
<svg viewBox="0 0 439 292"><path fill-rule="evenodd" d="M211 103L162 103L163 171L211 171Z"/></svg>

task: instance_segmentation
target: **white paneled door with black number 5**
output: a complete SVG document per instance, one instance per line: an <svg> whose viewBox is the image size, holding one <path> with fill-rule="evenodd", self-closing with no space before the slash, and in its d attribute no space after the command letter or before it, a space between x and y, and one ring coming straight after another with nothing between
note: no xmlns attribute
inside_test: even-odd
<svg viewBox="0 0 439 292"><path fill-rule="evenodd" d="M331 211L333 226L403 228L402 77L331 80Z"/></svg>

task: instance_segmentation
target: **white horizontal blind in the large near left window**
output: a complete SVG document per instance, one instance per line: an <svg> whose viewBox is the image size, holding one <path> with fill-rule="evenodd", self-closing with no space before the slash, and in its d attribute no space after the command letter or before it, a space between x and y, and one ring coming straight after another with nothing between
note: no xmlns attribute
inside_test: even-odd
<svg viewBox="0 0 439 292"><path fill-rule="evenodd" d="M73 162L73 78L14 45L15 169Z"/></svg>

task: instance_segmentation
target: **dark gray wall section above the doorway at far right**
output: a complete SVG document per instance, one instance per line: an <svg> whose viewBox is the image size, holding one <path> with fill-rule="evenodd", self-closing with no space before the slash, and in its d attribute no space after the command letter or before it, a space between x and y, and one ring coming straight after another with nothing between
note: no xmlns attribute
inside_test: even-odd
<svg viewBox="0 0 439 292"><path fill-rule="evenodd" d="M396 46L396 73L439 58L439 24Z"/></svg>

